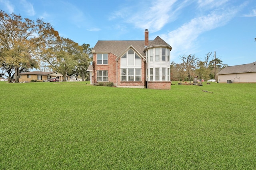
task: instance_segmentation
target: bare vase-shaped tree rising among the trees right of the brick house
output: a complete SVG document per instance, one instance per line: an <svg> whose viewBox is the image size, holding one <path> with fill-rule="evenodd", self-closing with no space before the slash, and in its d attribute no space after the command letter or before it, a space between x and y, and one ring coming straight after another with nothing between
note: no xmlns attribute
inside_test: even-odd
<svg viewBox="0 0 256 170"><path fill-rule="evenodd" d="M196 64L198 63L198 58L195 55L183 55L180 59L185 65L186 72L188 74L188 79L191 81L191 75L194 75L194 70L196 69Z"/></svg>

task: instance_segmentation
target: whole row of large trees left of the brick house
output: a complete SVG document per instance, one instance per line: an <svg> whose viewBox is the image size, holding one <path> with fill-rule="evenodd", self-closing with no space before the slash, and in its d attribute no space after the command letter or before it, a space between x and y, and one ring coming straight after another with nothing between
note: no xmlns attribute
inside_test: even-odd
<svg viewBox="0 0 256 170"><path fill-rule="evenodd" d="M0 10L0 76L19 82L19 74L30 69L58 71L64 76L88 78L92 61L89 44L60 37L52 25L42 19L22 18Z"/></svg>

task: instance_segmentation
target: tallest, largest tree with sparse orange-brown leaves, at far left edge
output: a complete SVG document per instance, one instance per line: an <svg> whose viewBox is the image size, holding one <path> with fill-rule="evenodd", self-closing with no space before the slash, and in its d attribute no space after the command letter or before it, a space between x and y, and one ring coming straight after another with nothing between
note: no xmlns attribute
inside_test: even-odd
<svg viewBox="0 0 256 170"><path fill-rule="evenodd" d="M24 68L33 68L33 57L37 55L39 47L46 47L58 36L50 23L43 20L24 20L14 13L8 15L0 10L0 63L4 65L9 77L15 72L15 82L19 81L19 73ZM33 62L32 62L33 61ZM14 69L12 69L12 67Z"/></svg>

